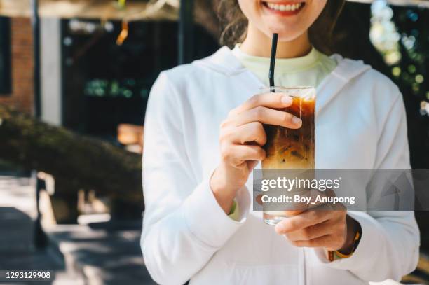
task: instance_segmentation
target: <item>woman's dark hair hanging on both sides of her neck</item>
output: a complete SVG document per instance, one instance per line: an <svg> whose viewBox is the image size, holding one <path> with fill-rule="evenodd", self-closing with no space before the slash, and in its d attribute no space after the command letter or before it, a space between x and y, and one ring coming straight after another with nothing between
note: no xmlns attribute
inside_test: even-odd
<svg viewBox="0 0 429 285"><path fill-rule="evenodd" d="M322 13L309 29L311 43L323 53L331 53L334 27L345 1L327 0ZM223 45L232 48L245 39L247 18L238 6L238 0L219 0L218 16L222 27L220 41Z"/></svg>

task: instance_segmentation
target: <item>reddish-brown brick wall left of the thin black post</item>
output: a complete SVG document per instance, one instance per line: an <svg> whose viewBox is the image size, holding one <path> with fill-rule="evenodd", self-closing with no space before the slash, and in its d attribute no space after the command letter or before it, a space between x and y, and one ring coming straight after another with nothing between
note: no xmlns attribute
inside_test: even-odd
<svg viewBox="0 0 429 285"><path fill-rule="evenodd" d="M33 41L29 18L11 18L12 94L0 95L0 104L33 112Z"/></svg>

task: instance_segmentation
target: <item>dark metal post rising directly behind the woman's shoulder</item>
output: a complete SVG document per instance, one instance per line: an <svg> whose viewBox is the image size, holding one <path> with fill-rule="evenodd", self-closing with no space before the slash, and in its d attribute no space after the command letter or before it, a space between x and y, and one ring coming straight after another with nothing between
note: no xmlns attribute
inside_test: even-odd
<svg viewBox="0 0 429 285"><path fill-rule="evenodd" d="M193 0L180 0L179 64L193 60Z"/></svg>

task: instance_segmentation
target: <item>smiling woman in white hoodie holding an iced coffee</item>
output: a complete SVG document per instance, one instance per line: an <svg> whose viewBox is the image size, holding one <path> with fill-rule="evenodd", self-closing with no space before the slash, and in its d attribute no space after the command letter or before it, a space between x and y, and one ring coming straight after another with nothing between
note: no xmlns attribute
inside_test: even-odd
<svg viewBox="0 0 429 285"><path fill-rule="evenodd" d="M312 47L329 41L341 4L221 0L229 16L223 36L240 44L161 73L149 98L143 160L142 251L155 281L367 284L414 270L412 211L304 211L275 228L252 211L250 174L265 157L263 124L301 127L278 111L290 97L255 95L268 85L274 32L275 82L317 87L316 168L410 168L397 87L362 62ZM355 189L365 195L366 186Z"/></svg>

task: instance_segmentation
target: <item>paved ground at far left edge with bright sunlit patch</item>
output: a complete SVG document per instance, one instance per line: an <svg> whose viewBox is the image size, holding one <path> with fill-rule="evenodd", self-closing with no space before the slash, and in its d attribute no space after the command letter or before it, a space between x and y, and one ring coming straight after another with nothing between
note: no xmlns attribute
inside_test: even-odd
<svg viewBox="0 0 429 285"><path fill-rule="evenodd" d="M0 197L0 270L53 270L57 274L55 281L38 284L83 284L79 278L67 274L59 253L51 247L36 249L34 246L33 180L0 176Z"/></svg>

